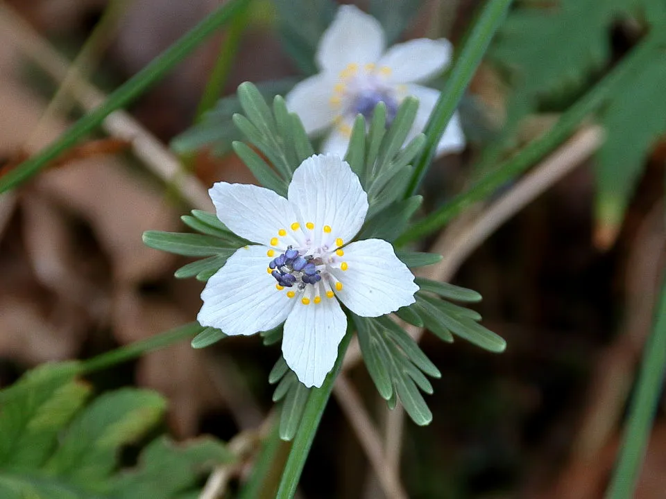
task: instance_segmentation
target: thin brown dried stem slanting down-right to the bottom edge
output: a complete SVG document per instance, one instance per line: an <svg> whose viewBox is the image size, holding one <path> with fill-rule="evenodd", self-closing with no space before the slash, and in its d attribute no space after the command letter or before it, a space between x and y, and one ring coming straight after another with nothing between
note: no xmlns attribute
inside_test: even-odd
<svg viewBox="0 0 666 499"><path fill-rule="evenodd" d="M373 421L370 420L368 412L366 412L361 402L361 397L344 373L338 375L333 393L349 420L352 430L356 433L386 497L389 499L407 499L409 496L402 488L397 473L393 473L391 467L384 460L384 450L382 449L382 439L379 432Z"/></svg>

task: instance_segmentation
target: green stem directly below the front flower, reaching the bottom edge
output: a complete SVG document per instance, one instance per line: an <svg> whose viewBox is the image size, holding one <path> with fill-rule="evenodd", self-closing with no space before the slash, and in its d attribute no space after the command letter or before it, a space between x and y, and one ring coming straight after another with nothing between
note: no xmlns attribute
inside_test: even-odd
<svg viewBox="0 0 666 499"><path fill-rule="evenodd" d="M280 480L280 489L278 489L278 495L275 496L276 499L291 499L293 498L293 494L296 493L298 480L300 480L300 474L303 471L305 460L310 452L319 421L321 421L326 403L333 391L333 383L335 383L335 378L338 377L342 361L345 358L345 352L352 339L352 322L348 321L348 324L347 334L345 334L345 337L340 342L338 358L335 361L332 371L326 376L321 388L312 389L307 399L305 412L303 412L303 417L300 420L296 437L293 439L289 459L287 459L287 464L284 466L282 480Z"/></svg>

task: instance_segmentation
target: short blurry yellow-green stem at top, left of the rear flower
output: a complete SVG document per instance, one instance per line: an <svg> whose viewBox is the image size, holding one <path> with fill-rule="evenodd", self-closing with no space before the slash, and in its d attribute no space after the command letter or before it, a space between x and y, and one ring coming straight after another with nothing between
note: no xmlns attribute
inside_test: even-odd
<svg viewBox="0 0 666 499"><path fill-rule="evenodd" d="M224 86L229 78L234 60L236 60L241 39L248 23L249 12L250 9L245 9L237 15L223 37L219 56L210 72L210 78L208 78L201 100L196 108L195 123L200 121L205 112L212 109L224 91Z"/></svg>

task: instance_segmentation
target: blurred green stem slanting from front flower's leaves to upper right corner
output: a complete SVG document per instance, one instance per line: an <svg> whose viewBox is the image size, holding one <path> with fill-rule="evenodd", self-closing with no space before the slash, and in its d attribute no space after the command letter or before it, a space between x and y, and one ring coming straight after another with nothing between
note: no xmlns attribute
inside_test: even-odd
<svg viewBox="0 0 666 499"><path fill-rule="evenodd" d="M572 136L589 114L597 111L613 95L627 74L633 73L642 64L647 64L654 57L654 51L660 43L658 35L649 35L631 54L627 55L613 71L601 80L588 93L580 98L564 112L557 123L542 137L531 141L511 159L504 161L499 167L473 185L468 191L457 195L452 201L436 209L427 217L413 224L395 240L395 245L404 245L413 240L438 231L452 218L458 216L471 204L492 195L500 186L530 168L537 161L552 152L556 147Z"/></svg>

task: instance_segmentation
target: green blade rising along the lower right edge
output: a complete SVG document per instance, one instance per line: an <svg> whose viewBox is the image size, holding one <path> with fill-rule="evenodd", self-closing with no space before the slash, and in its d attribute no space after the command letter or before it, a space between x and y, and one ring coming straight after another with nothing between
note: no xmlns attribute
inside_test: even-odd
<svg viewBox="0 0 666 499"><path fill-rule="evenodd" d="M663 279L660 303L654 329L643 351L636 391L629 408L629 419L617 467L610 480L608 499L631 499L649 443L654 414L659 404L666 373L666 276Z"/></svg>

